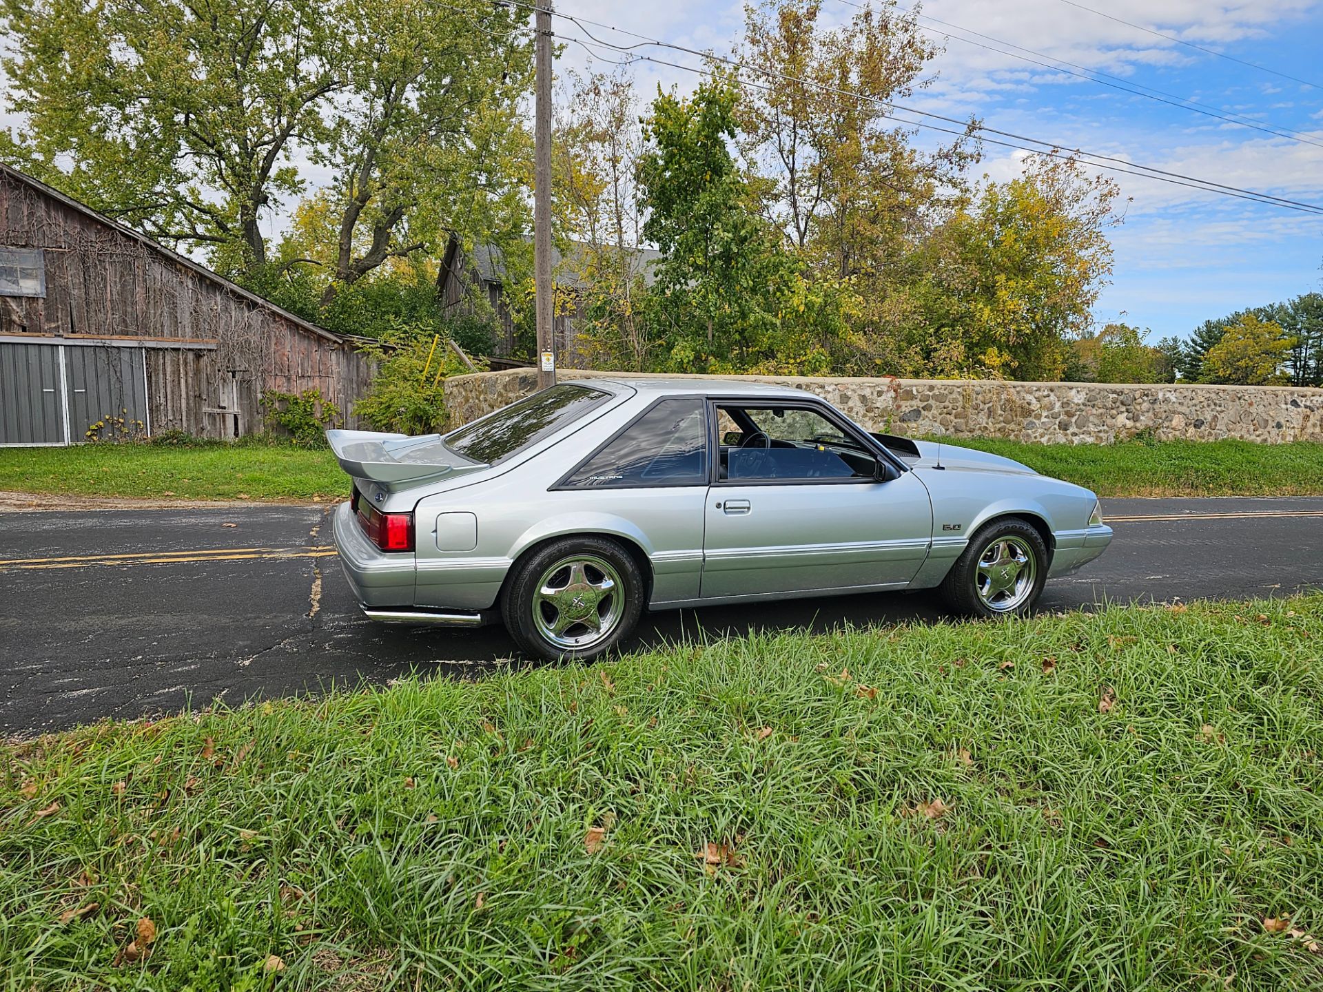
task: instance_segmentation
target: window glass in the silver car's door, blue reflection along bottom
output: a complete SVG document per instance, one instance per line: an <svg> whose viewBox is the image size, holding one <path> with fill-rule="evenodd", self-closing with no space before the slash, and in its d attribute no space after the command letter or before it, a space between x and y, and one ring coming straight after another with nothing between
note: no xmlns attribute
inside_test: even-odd
<svg viewBox="0 0 1323 992"><path fill-rule="evenodd" d="M718 407L718 423L738 431L718 436L720 477L738 481L873 479L877 458L816 410Z"/></svg>

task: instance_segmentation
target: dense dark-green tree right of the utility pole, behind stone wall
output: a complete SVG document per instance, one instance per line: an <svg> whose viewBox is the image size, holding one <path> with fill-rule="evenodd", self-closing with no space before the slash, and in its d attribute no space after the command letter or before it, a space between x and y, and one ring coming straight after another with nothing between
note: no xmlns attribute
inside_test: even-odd
<svg viewBox="0 0 1323 992"><path fill-rule="evenodd" d="M662 251L651 317L667 370L737 372L766 348L777 243L749 209L726 145L734 90L721 81L691 99L659 94L644 122L651 143L638 179L648 208L643 235Z"/></svg>

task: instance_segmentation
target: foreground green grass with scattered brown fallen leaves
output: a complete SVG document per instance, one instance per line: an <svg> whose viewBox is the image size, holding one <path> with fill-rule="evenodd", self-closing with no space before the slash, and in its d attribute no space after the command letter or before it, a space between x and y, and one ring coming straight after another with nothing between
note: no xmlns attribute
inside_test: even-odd
<svg viewBox="0 0 1323 992"><path fill-rule="evenodd" d="M1118 607L15 745L0 984L1323 988L1320 648L1318 595Z"/></svg>

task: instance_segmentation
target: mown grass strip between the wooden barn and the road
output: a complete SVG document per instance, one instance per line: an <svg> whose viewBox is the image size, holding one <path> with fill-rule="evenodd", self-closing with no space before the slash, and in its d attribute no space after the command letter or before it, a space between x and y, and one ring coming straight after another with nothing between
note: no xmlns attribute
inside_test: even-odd
<svg viewBox="0 0 1323 992"><path fill-rule="evenodd" d="M292 444L79 444L0 448L0 489L181 500L339 497L349 480L325 448Z"/></svg>

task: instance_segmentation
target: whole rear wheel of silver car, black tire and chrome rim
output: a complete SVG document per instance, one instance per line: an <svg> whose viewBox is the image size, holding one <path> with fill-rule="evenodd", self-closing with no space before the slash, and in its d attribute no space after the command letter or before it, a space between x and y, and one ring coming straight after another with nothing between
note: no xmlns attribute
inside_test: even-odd
<svg viewBox="0 0 1323 992"><path fill-rule="evenodd" d="M586 661L634 631L643 589L639 566L615 541L564 537L520 562L501 615L525 655Z"/></svg>

